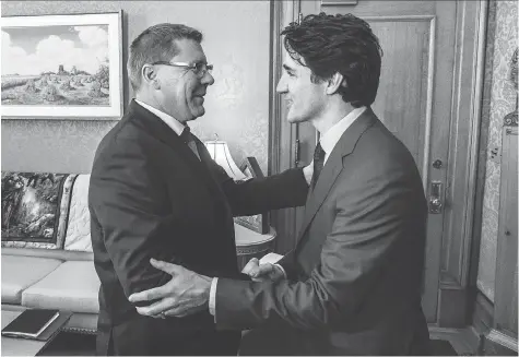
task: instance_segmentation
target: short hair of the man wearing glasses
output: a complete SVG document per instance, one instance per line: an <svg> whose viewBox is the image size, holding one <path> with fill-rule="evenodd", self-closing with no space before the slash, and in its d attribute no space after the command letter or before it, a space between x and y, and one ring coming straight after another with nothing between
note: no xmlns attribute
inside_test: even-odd
<svg viewBox="0 0 519 357"><path fill-rule="evenodd" d="M144 29L131 43L128 56L128 76L131 86L137 91L141 85L141 70L144 63L169 61L178 55L179 50L175 40L192 39L202 41L202 33L181 24L157 24Z"/></svg>

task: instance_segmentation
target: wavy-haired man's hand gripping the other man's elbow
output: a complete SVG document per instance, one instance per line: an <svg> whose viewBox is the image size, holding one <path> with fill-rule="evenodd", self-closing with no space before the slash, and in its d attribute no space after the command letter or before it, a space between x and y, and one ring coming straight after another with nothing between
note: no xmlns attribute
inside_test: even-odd
<svg viewBox="0 0 519 357"><path fill-rule="evenodd" d="M210 277L155 259L151 259L150 263L172 275L172 279L163 286L130 295L130 302L160 299L146 307L138 307L137 312L153 318L165 316L181 318L208 309Z"/></svg>

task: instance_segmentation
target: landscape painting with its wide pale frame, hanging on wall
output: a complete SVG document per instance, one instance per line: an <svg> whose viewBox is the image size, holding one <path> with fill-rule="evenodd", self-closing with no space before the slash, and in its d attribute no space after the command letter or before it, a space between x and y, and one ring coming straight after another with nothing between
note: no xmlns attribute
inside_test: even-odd
<svg viewBox="0 0 519 357"><path fill-rule="evenodd" d="M2 17L2 119L120 118L121 14Z"/></svg>

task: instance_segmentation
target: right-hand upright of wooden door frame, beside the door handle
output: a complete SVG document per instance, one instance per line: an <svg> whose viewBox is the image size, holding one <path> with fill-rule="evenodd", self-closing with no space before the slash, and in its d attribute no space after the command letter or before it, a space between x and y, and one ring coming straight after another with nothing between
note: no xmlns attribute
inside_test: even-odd
<svg viewBox="0 0 519 357"><path fill-rule="evenodd" d="M452 121L446 182L437 325L470 323L474 247L474 212L479 165L481 111L485 70L488 1L458 1L453 71Z"/></svg>

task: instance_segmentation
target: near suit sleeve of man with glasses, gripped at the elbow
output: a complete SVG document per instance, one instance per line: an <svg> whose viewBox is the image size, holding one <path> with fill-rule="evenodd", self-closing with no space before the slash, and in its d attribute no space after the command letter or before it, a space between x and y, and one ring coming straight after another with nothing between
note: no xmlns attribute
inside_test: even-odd
<svg viewBox="0 0 519 357"><path fill-rule="evenodd" d="M92 218L102 229L127 297L167 281L166 273L150 264L151 258L181 264L175 257L166 257L157 243L180 223L175 212L166 209L164 182L152 174L150 160L135 146L126 140L96 159L89 194Z"/></svg>

